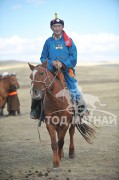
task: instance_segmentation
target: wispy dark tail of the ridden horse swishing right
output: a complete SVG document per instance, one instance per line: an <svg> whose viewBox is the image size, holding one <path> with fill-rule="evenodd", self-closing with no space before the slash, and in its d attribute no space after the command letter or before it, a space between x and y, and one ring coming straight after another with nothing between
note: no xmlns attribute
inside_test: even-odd
<svg viewBox="0 0 119 180"><path fill-rule="evenodd" d="M92 138L95 137L95 130L90 127L87 123L76 124L77 130L81 133L84 139L92 144Z"/></svg>

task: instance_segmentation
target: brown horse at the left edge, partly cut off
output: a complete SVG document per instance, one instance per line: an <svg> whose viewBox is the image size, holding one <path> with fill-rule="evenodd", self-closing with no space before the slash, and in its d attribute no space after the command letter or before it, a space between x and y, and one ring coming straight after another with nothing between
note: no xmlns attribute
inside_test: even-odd
<svg viewBox="0 0 119 180"><path fill-rule="evenodd" d="M0 116L3 115L3 108L11 86L19 88L19 83L15 75L11 74L0 78Z"/></svg>

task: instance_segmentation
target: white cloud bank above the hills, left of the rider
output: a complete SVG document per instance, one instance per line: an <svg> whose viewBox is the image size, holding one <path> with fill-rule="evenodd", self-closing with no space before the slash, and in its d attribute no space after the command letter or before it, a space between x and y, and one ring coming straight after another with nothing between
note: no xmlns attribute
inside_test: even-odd
<svg viewBox="0 0 119 180"><path fill-rule="evenodd" d="M16 59L39 61L40 49L45 39L21 38L18 35L0 38L0 60Z"/></svg>

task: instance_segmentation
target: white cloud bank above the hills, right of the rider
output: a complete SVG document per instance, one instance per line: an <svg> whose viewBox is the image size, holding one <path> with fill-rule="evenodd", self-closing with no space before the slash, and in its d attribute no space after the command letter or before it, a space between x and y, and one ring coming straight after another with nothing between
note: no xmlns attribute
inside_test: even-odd
<svg viewBox="0 0 119 180"><path fill-rule="evenodd" d="M70 33L80 60L113 61L119 60L119 35L100 33L78 35Z"/></svg>

